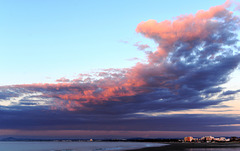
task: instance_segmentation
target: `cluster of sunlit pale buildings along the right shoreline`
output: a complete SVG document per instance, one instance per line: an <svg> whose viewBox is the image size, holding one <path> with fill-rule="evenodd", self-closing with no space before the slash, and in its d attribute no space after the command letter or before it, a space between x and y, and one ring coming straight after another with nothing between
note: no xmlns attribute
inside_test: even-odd
<svg viewBox="0 0 240 151"><path fill-rule="evenodd" d="M184 142L229 142L229 138L225 137L217 137L214 138L213 136L204 136L202 138L193 138L192 136L184 137Z"/></svg>

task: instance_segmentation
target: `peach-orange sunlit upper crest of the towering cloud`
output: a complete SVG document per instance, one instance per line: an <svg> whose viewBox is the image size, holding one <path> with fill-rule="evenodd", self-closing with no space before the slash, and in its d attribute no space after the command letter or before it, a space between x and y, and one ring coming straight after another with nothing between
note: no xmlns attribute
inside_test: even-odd
<svg viewBox="0 0 240 151"><path fill-rule="evenodd" d="M231 21L232 12L228 11L231 2L226 1L223 5L211 7L209 10L200 10L195 15L178 16L176 20L143 21L138 24L136 32L147 38L154 39L159 44L157 51L149 55L150 62L167 57L167 54L174 50L178 41L191 42L197 39L206 39L215 31L215 24L220 20ZM218 20L220 19L220 20Z"/></svg>

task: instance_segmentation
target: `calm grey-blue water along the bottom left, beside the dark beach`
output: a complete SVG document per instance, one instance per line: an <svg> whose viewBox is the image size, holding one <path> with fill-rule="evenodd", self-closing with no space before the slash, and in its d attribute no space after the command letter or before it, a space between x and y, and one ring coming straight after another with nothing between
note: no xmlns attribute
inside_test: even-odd
<svg viewBox="0 0 240 151"><path fill-rule="evenodd" d="M122 151L163 145L134 142L0 142L0 151Z"/></svg>

